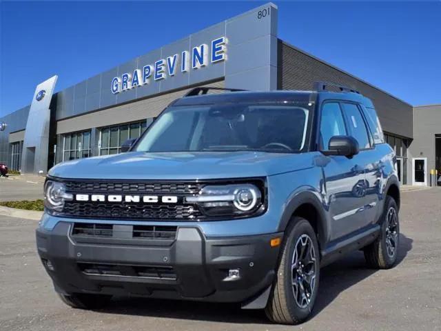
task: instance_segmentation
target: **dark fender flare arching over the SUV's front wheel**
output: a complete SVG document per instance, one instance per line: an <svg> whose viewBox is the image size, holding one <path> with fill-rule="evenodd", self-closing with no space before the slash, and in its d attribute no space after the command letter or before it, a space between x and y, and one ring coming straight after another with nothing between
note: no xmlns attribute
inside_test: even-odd
<svg viewBox="0 0 441 331"><path fill-rule="evenodd" d="M285 210L283 211L280 223L278 226L279 232L285 232L292 215L300 205L303 204L312 205L317 214L317 228L318 228L318 243L320 247L325 247L327 241L329 240L329 225L327 223L326 212L327 206L324 201L321 200L320 194L311 190L303 190L291 196L289 202L287 203Z"/></svg>

